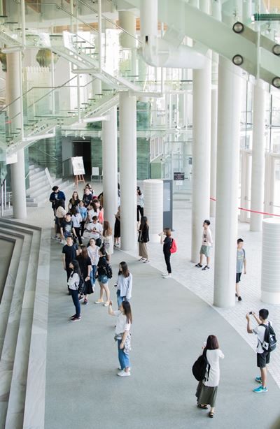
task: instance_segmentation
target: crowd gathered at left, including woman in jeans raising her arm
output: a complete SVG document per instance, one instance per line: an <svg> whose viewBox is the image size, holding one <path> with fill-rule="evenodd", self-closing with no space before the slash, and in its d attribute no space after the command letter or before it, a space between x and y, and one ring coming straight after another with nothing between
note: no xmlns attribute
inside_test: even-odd
<svg viewBox="0 0 280 429"><path fill-rule="evenodd" d="M117 317L115 339L118 343L120 362L118 375L129 376L132 273L125 261L120 262L117 281L114 284L118 310L113 311L109 289L109 279L113 275L111 268L113 232L109 221L104 220L102 195L95 196L92 187L87 184L83 199L80 200L77 191L73 192L67 212L65 201L64 193L58 187L53 187L50 202L55 214L55 235L52 238L63 244L63 268L66 271L68 293L72 297L76 310L69 321L80 321L80 302L83 301L84 305L88 304L88 296L94 293L97 279L100 293L94 303L109 307L109 314ZM83 240L87 240L87 244L85 242L84 245Z"/></svg>

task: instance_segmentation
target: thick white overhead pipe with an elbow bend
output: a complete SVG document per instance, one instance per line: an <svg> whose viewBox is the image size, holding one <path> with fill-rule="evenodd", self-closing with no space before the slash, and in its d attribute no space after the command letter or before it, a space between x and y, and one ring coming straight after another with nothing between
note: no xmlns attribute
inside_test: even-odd
<svg viewBox="0 0 280 429"><path fill-rule="evenodd" d="M143 45L139 52L150 66L204 68L206 58L195 48L174 46L158 37L158 0L141 0L140 22Z"/></svg>

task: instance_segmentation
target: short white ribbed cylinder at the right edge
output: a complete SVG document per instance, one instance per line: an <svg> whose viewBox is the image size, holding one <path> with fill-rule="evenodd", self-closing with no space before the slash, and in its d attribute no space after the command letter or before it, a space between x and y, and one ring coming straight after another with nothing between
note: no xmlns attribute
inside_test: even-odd
<svg viewBox="0 0 280 429"><path fill-rule="evenodd" d="M262 221L262 280L261 300L280 304L280 220Z"/></svg>

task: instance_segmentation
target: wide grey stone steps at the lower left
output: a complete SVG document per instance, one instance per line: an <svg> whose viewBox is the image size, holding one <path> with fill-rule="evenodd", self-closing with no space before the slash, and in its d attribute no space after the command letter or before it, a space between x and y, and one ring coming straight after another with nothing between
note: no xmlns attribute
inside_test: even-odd
<svg viewBox="0 0 280 429"><path fill-rule="evenodd" d="M13 254L0 301L0 428L43 428L50 230L0 219Z"/></svg>

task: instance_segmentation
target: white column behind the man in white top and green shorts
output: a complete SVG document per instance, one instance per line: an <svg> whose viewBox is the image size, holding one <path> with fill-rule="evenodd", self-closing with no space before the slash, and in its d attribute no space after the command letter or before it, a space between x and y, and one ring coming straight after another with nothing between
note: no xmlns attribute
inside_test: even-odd
<svg viewBox="0 0 280 429"><path fill-rule="evenodd" d="M209 218L211 145L211 61L193 71L193 204L191 260L197 262L202 224Z"/></svg>

